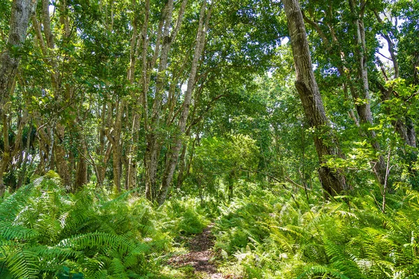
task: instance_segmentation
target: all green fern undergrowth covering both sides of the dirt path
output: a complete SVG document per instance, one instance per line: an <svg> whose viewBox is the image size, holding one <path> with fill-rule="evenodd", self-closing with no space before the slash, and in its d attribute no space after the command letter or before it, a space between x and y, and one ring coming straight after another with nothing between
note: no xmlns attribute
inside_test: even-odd
<svg viewBox="0 0 419 279"><path fill-rule="evenodd" d="M0 201L0 278L186 278L167 260L207 216L219 262L244 278L419 278L419 193L389 194L384 212L379 198L254 190L156 207L94 186L65 193L51 174Z"/></svg>

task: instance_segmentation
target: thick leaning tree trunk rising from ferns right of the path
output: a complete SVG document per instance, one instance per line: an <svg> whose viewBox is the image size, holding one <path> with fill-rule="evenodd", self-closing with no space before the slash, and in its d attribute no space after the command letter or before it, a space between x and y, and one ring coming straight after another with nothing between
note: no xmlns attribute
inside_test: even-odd
<svg viewBox="0 0 419 279"><path fill-rule="evenodd" d="M295 87L300 95L309 125L315 129L314 144L321 165L318 168L319 178L324 190L329 195L337 195L347 189L346 181L344 175L338 169L332 169L324 165L325 156L339 156L339 149L333 141L334 136L314 77L300 3L297 0L283 0L282 2L284 3L293 49L296 72ZM327 144L323 140L326 138L332 142Z"/></svg>

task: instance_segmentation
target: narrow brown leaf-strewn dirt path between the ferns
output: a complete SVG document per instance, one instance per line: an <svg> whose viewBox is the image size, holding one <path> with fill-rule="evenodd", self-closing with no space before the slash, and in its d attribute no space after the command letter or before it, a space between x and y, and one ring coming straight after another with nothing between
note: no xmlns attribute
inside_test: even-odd
<svg viewBox="0 0 419 279"><path fill-rule="evenodd" d="M210 262L212 257L212 247L214 246L214 236L211 233L212 225L203 230L202 234L197 234L189 241L189 252L184 255L172 257L169 263L175 267L192 266L195 273L204 276L205 279L226 279L233 276L223 276L217 272L216 266Z"/></svg>

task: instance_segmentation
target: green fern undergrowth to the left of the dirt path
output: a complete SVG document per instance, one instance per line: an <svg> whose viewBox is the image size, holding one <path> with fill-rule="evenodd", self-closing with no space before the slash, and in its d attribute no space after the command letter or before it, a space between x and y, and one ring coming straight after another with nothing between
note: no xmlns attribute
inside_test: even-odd
<svg viewBox="0 0 419 279"><path fill-rule="evenodd" d="M173 239L202 232L203 214L191 199L156 209L130 192L68 194L53 175L36 179L0 203L0 278L162 278Z"/></svg>

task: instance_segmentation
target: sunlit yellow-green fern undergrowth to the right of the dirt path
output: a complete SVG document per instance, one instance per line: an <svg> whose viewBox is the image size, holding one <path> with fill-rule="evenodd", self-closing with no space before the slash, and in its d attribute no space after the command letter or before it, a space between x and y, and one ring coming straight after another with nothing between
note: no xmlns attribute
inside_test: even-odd
<svg viewBox="0 0 419 279"><path fill-rule="evenodd" d="M220 207L216 249L244 278L419 278L419 193L388 195L385 212L374 195L236 198Z"/></svg>

